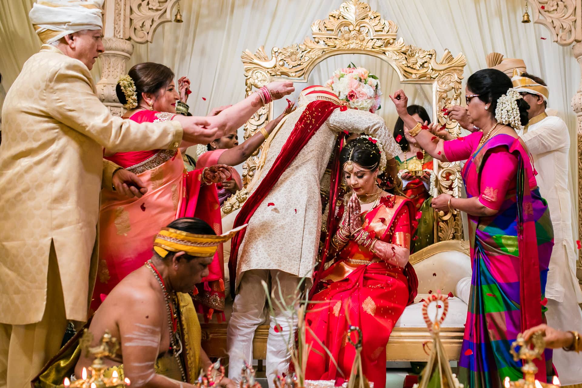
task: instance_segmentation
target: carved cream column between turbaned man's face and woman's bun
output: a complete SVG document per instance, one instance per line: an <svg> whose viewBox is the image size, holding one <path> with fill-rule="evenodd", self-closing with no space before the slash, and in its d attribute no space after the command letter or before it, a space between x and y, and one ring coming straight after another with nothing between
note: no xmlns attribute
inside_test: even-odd
<svg viewBox="0 0 582 388"><path fill-rule="evenodd" d="M119 77L127 73L126 65L133 53L133 44L120 38L103 38L105 52L101 59L101 79L97 83L97 95L103 104L109 107L116 116L123 115L125 108L120 104L115 94L115 86Z"/></svg>

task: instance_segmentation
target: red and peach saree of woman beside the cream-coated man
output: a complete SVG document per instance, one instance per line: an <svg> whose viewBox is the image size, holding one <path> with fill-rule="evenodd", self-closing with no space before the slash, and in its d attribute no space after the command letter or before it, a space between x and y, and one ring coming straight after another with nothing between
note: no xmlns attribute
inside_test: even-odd
<svg viewBox="0 0 582 388"><path fill-rule="evenodd" d="M171 120L166 112L139 111L136 122ZM99 220L99 266L91 309L97 310L120 280L152 257L159 230L181 217L203 219L217 234L222 233L220 208L214 184L200 184L202 169L186 172L180 151L154 150L118 152L105 159L135 173L148 187L141 198L126 198L102 190ZM198 204L200 206L198 206ZM210 274L194 290L198 312L210 318L224 309L222 247L209 266Z"/></svg>

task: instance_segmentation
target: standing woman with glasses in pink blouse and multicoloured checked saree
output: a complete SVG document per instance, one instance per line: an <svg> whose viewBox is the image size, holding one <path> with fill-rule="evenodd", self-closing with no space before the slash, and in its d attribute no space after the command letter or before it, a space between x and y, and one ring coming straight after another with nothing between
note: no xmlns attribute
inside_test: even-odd
<svg viewBox="0 0 582 388"><path fill-rule="evenodd" d="M406 112L402 90L391 96L418 144L441 161L467 159L467 198L441 194L438 211L459 209L469 216L473 276L459 361L459 381L471 388L501 387L523 377L509 350L517 334L544 322L544 289L553 230L540 196L530 155L514 128L527 123L527 102L499 70L479 70L467 80L471 121L483 128L443 141ZM536 378L550 381L552 353L546 350Z"/></svg>

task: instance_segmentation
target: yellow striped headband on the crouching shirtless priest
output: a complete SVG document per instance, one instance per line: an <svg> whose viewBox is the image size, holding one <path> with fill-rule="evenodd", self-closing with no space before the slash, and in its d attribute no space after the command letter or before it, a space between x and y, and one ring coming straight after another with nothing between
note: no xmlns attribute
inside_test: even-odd
<svg viewBox="0 0 582 388"><path fill-rule="evenodd" d="M193 234L183 230L162 227L154 240L154 251L161 257L166 257L168 252L186 252L192 256L212 257L218 249L218 245L232 239L239 230L247 227L247 224L239 226L230 232L220 236L214 234Z"/></svg>

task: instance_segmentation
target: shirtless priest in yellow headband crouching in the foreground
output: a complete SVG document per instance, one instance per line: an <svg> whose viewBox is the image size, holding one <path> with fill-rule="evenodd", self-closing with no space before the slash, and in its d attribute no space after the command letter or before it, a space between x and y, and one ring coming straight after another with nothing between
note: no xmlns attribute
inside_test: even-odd
<svg viewBox="0 0 582 388"><path fill-rule="evenodd" d="M218 245L232 234L216 236L203 220L187 217L162 228L152 258L113 288L91 320L91 346L98 344L105 330L120 341L117 357L105 360L106 376L118 370L132 386L186 388L208 370L211 362L200 347L200 323L188 293L208 275ZM72 340L65 348L74 346L78 345ZM41 372L41 384L35 386L61 383L62 375L72 372L59 368L60 360L66 359L63 350ZM85 352L79 353L74 367L77 378L93 361ZM226 378L218 385L235 387Z"/></svg>

